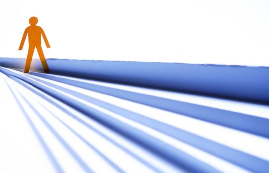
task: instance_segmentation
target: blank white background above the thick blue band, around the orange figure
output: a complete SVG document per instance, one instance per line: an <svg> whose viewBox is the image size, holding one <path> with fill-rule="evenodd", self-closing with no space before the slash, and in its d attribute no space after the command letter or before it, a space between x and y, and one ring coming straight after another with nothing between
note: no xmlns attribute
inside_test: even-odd
<svg viewBox="0 0 269 173"><path fill-rule="evenodd" d="M46 58L269 66L269 0L1 0L0 57L31 16Z"/></svg>

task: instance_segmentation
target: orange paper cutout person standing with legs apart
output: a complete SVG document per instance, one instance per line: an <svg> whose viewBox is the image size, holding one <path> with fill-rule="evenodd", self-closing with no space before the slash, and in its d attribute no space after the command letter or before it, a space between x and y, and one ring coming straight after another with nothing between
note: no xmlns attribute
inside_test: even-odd
<svg viewBox="0 0 269 173"><path fill-rule="evenodd" d="M24 68L24 73L28 73L29 72L29 68L31 65L31 61L32 61L32 57L33 57L33 53L35 50L35 47L37 49L39 58L41 60L43 69L45 71L45 73L49 73L49 67L48 64L46 62L42 47L41 47L41 35L43 36L43 39L46 43L46 46L49 48L51 47L47 37L43 31L43 29L39 26L36 26L38 22L38 19L36 17L31 17L29 19L29 23L30 26L27 27L23 33L22 39L21 39L21 43L19 46L19 50L22 50L23 44L25 42L26 36L28 34L28 41L29 41L29 49L28 49L28 54L27 54L27 58L26 58L26 63L25 63L25 68Z"/></svg>

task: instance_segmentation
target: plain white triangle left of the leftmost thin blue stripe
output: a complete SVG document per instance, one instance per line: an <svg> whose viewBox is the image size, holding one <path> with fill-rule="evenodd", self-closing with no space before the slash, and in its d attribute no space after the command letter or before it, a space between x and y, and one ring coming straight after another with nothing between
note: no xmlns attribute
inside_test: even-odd
<svg viewBox="0 0 269 173"><path fill-rule="evenodd" d="M55 169L0 73L0 172L54 173Z"/></svg>

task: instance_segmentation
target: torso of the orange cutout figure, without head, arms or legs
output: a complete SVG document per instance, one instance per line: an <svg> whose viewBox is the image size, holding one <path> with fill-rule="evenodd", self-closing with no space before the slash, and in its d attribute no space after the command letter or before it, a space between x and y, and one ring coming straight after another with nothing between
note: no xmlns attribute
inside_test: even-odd
<svg viewBox="0 0 269 173"><path fill-rule="evenodd" d="M39 26L31 25L27 27L27 31L28 31L29 46L41 45L42 28Z"/></svg>

